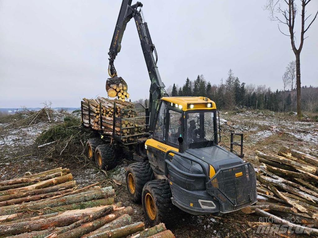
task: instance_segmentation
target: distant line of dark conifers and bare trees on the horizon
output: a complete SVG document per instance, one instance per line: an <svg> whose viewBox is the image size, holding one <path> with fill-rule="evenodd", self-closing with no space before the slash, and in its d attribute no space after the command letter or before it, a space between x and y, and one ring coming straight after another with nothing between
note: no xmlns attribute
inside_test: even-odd
<svg viewBox="0 0 318 238"><path fill-rule="evenodd" d="M266 85L241 82L230 69L225 82L221 79L218 84L211 84L204 79L203 75L198 75L196 80L191 81L187 78L183 86L173 84L166 91L169 96L208 97L216 103L218 109L245 107L288 112L296 110L296 89L293 80L284 74L282 77L284 90L272 91ZM145 104L144 99L136 102ZM305 111L318 112L318 87L302 86L301 105Z"/></svg>

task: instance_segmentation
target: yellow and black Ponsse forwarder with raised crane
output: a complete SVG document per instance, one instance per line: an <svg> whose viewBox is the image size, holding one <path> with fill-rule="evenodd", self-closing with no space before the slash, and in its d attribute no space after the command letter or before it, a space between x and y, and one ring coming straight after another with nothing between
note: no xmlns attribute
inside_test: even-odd
<svg viewBox="0 0 318 238"><path fill-rule="evenodd" d="M252 205L257 201L256 178L253 166L242 159L243 135L231 133L231 152L228 151L226 146L218 145L221 137L220 134L218 137L219 113L215 102L206 97L166 94L156 66L156 48L148 25L143 22L142 3L131 5L131 2L123 0L121 4L108 53L112 78L107 83L124 82L117 77L114 60L121 50L126 25L134 18L151 80L149 110L139 103L123 108L122 115L124 111L136 110L137 117L145 118L142 125L134 123L138 134L117 136L113 129L112 136L101 135L102 140L87 142L88 156L95 155L99 167L110 169L116 164L118 150L134 153L134 159L139 162L127 168L127 191L134 202L142 201L144 214L152 226L160 221L169 225L176 220L172 214L176 207L202 215L228 213ZM135 118L114 117L114 123L121 122L123 131L127 127L122 121ZM141 127L145 128L142 133ZM241 136L241 143L233 142L233 135ZM127 137L130 143L124 140ZM240 155L233 145L241 147Z"/></svg>

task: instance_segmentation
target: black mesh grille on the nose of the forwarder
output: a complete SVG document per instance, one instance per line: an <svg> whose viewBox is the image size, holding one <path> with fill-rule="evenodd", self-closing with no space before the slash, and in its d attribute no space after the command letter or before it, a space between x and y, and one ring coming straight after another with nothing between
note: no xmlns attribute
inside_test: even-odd
<svg viewBox="0 0 318 238"><path fill-rule="evenodd" d="M224 213L257 201L256 176L250 163L221 169L207 185L207 192L219 200Z"/></svg>

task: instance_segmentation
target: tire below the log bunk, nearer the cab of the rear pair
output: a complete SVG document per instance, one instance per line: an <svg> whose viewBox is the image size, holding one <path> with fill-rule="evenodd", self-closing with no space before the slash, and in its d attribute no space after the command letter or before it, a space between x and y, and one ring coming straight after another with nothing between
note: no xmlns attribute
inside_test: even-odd
<svg viewBox="0 0 318 238"><path fill-rule="evenodd" d="M98 169L110 170L116 167L116 148L112 144L103 144L96 147L95 163Z"/></svg>

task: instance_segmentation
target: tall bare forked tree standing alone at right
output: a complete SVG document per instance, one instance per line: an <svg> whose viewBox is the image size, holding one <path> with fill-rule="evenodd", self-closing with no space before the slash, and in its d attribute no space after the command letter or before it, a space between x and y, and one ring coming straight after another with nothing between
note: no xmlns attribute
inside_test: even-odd
<svg viewBox="0 0 318 238"><path fill-rule="evenodd" d="M290 37L292 49L294 51L296 57L296 92L297 92L297 118L302 119L301 114L301 77L300 77L300 53L304 44L304 40L308 37L305 37L305 33L308 31L311 24L315 21L318 10L310 20L311 14L308 17L305 17L306 14L306 6L311 0L299 0L301 2L301 33L300 33L300 43L297 49L295 45L296 36L294 30L295 19L298 13L298 8L296 4L296 0L266 0L265 9L270 11L271 20L278 21L278 29L280 32ZM307 21L308 20L308 24ZM305 23L307 24L305 26ZM284 33L280 29L280 25L286 25L288 28L288 33Z"/></svg>

